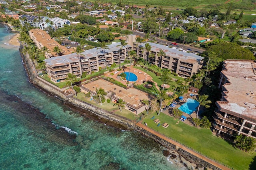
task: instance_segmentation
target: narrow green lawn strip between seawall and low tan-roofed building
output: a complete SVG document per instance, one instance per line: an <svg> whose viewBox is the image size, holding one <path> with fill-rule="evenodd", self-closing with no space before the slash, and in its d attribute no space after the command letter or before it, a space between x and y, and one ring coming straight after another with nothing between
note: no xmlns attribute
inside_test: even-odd
<svg viewBox="0 0 256 170"><path fill-rule="evenodd" d="M138 117L140 117L140 115L141 115L141 114L135 115L134 113L132 113L132 112L126 110L126 109L121 109L122 111L120 111L119 108L118 108L118 106L113 106L113 105L114 105L113 102L110 102L110 103L104 102L104 103L102 104L102 106L101 106L100 104L97 104L97 103L94 102L93 100L90 100L90 98L86 98L86 97L84 96L84 93L79 93L76 98L78 98L78 99L80 99L80 100L82 100L82 101L85 101L85 102L87 102L87 103L93 104L93 105L95 105L95 106L97 106L97 107L100 107L100 108L102 108L102 109L105 109L105 110L107 110L107 111L112 111L112 112L114 112L114 113L116 113L116 114L118 114L118 115L121 115L121 116L123 116L123 117L126 117L126 118L128 118L128 119L135 120L135 119L137 119Z"/></svg>

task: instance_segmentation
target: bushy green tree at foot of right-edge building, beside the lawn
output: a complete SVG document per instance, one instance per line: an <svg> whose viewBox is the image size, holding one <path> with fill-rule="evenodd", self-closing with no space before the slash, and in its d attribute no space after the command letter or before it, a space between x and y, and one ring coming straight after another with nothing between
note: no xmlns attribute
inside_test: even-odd
<svg viewBox="0 0 256 170"><path fill-rule="evenodd" d="M235 146L246 152L253 152L256 149L255 139L252 137L246 137L245 135L237 135L234 140Z"/></svg>

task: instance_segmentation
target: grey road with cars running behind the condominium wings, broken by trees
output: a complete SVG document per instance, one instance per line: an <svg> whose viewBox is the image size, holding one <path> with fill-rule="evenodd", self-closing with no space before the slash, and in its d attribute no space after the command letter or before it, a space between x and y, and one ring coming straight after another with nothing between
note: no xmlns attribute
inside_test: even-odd
<svg viewBox="0 0 256 170"><path fill-rule="evenodd" d="M130 29L128 29L129 31L132 31ZM139 35L140 37L145 37L145 33L143 32L139 32L139 31L132 31L132 33L134 35ZM160 39L158 38L156 35L151 35L151 37L156 37L156 41L159 43L159 44L164 44L164 45L170 45L171 46L171 43L173 43L172 41L168 41L166 39ZM174 46L176 47L176 46ZM204 52L205 50L204 49L200 49L200 48L196 48L196 47L191 47L190 45L183 45L183 44L179 44L178 43L178 47L184 49L184 50L187 50L187 49L191 49L191 51L194 51L196 53L200 52ZM189 50L190 51L190 50Z"/></svg>

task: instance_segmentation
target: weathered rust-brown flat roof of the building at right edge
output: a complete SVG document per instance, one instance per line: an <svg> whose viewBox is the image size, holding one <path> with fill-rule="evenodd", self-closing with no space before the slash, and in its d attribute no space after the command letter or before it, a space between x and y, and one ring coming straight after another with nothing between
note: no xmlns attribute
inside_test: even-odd
<svg viewBox="0 0 256 170"><path fill-rule="evenodd" d="M220 107L256 119L256 61L226 60L222 74L230 83L224 84L228 102Z"/></svg>

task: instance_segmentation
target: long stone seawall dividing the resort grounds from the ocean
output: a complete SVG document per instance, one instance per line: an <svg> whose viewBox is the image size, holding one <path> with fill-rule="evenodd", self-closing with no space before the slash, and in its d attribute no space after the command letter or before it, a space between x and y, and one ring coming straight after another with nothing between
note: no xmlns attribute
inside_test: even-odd
<svg viewBox="0 0 256 170"><path fill-rule="evenodd" d="M21 51L21 49L22 49L22 46L20 46L20 51ZM213 170L220 170L220 168L217 168L216 166L209 164L208 162L186 152L185 150L178 148L176 145L173 145L172 143L169 143L169 142L165 141L164 139L157 137L156 135L136 126L135 122L133 122L129 119L124 119L118 115L115 115L114 113L108 112L104 109L100 109L91 104L87 104L86 102L82 102L82 101L72 97L72 95L70 95L70 96L64 95L64 93L61 90L54 87L54 85L50 85L49 83L46 83L46 82L42 81L40 78L38 78L34 64L29 59L28 55L22 55L22 53L20 55L23 59L24 67L27 71L30 82L35 84L36 86L39 86L40 88L46 90L47 92L53 94L54 96L58 96L62 100L65 100L66 102L68 102L76 107L79 107L82 109L87 109L87 110L91 111L93 114L98 115L99 117L103 117L105 119L108 119L109 121L114 121L118 124L125 126L128 129L134 129L134 130L138 131L142 135L149 137L149 138L153 139L154 141L160 143L162 146L166 147L167 149L174 151L175 153L178 154L178 157L182 156L184 159L188 160L192 164L196 164L197 168L207 167L207 168L211 168Z"/></svg>

